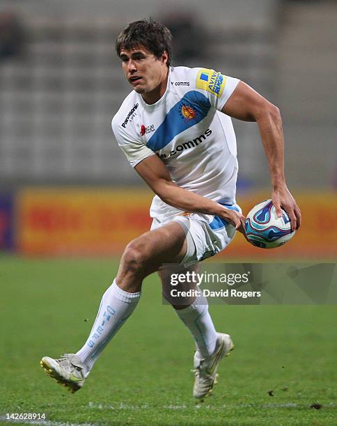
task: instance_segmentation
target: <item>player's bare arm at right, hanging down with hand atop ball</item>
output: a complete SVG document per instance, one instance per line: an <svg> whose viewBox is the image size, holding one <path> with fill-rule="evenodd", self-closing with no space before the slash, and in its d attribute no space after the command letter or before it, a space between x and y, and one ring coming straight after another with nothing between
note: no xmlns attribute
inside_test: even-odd
<svg viewBox="0 0 337 426"><path fill-rule="evenodd" d="M301 212L285 183L284 139L279 109L240 81L221 111L238 120L258 123L267 155L276 213L281 216L282 207L290 217L292 230L298 229L301 225Z"/></svg>

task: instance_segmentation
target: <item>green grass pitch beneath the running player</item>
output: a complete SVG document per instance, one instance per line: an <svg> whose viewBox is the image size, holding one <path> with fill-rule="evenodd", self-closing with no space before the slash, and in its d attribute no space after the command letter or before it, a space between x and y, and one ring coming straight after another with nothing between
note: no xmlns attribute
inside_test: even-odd
<svg viewBox="0 0 337 426"><path fill-rule="evenodd" d="M81 346L116 268L109 260L0 258L0 423L6 413L36 412L48 425L337 424L336 307L212 306L235 350L214 395L196 404L194 346L162 306L155 275L84 388L68 393L40 358Z"/></svg>

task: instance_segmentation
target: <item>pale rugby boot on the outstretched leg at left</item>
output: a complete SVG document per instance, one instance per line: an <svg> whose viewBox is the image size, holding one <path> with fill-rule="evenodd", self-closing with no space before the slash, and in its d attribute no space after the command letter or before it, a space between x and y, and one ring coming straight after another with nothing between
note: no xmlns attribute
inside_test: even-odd
<svg viewBox="0 0 337 426"><path fill-rule="evenodd" d="M45 368L47 374L68 388L72 393L79 390L86 381L84 364L75 354L64 354L59 359L44 356L40 365Z"/></svg>

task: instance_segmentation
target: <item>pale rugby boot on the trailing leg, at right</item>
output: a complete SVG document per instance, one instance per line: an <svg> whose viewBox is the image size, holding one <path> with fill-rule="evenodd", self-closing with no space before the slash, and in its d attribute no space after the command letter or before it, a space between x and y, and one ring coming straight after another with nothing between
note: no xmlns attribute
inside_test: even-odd
<svg viewBox="0 0 337 426"><path fill-rule="evenodd" d="M212 387L217 383L217 370L219 363L224 356L228 356L234 349L232 339L229 334L217 333L217 343L214 352L207 358L201 358L198 351L194 354L194 388L193 396L202 399L212 392Z"/></svg>

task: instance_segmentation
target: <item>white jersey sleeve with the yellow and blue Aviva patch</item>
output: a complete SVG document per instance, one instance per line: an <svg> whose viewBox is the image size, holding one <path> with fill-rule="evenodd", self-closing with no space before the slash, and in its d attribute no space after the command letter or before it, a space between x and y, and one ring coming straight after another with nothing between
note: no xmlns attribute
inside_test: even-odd
<svg viewBox="0 0 337 426"><path fill-rule="evenodd" d="M201 68L196 75L196 88L203 90L212 107L221 111L239 81L239 79L221 74L221 72Z"/></svg>

